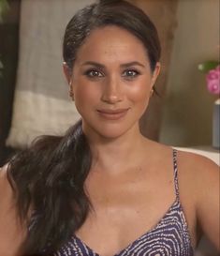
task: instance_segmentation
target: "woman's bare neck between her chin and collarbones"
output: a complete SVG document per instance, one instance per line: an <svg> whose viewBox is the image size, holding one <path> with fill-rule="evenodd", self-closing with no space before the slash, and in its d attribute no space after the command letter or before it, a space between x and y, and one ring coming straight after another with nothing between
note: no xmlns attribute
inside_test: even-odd
<svg viewBox="0 0 220 256"><path fill-rule="evenodd" d="M88 134L93 170L102 170L108 173L123 172L126 167L141 158L142 149L146 148L148 140L144 138L139 128L133 128L117 138L104 138L97 134Z"/></svg>

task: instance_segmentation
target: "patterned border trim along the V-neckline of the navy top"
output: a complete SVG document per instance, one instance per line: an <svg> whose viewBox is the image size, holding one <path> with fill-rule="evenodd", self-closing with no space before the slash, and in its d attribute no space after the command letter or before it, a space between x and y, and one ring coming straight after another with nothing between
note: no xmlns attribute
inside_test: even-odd
<svg viewBox="0 0 220 256"><path fill-rule="evenodd" d="M135 246L135 244L137 244L139 242L139 240L143 239L145 236L147 236L149 233L152 233L154 230L157 229L157 227L162 223L162 221L164 220L164 218L166 218L169 213L171 212L172 208L176 206L176 204L179 204L181 210L182 210L182 206L181 203L178 199L178 197L176 197L175 201L173 203L171 203L171 205L169 206L168 210L165 212L165 214L162 216L162 218L160 218L156 224L153 226L153 228L151 228L150 230L148 230L147 232L141 234L137 239L135 239L134 241L130 242L125 248L119 249L118 252L114 253L113 256L120 256L122 253L124 253L126 250L128 250L129 248L132 248L133 246ZM185 218L184 218L185 219ZM92 252L93 254L95 254L95 256L101 256L99 255L95 249L90 248L86 243L84 243L80 237L78 237L76 234L74 234L72 236L73 239L76 239L78 242L80 242L80 244L87 248L90 252ZM191 245L191 239L190 239L190 235L189 235L189 242ZM192 248L192 245L191 245Z"/></svg>

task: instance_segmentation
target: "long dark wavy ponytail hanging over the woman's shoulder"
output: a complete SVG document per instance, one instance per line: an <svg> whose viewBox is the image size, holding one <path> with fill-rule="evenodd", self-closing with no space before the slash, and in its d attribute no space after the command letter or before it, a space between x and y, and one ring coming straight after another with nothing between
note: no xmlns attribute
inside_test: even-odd
<svg viewBox="0 0 220 256"><path fill-rule="evenodd" d="M39 137L11 159L8 179L17 195L19 216L22 222L29 219L25 255L48 255L81 227L90 207L83 188L90 166L81 121L64 137Z"/></svg>

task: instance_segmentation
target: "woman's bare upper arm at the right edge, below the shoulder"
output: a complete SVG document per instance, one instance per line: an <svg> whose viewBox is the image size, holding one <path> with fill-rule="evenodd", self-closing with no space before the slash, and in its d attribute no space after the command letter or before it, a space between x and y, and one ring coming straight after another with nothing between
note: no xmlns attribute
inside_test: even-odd
<svg viewBox="0 0 220 256"><path fill-rule="evenodd" d="M219 178L219 167L208 158L199 157L195 177L198 224L218 249L220 249Z"/></svg>

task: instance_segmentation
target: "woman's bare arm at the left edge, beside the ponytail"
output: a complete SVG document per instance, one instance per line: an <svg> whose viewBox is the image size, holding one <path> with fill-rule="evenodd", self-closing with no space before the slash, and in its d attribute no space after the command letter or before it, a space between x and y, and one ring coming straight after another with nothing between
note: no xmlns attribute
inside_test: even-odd
<svg viewBox="0 0 220 256"><path fill-rule="evenodd" d="M7 180L7 167L0 168L0 256L17 256L24 233L14 194Z"/></svg>

